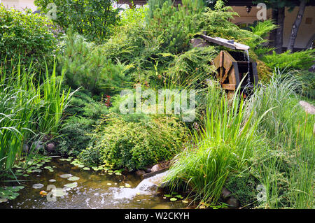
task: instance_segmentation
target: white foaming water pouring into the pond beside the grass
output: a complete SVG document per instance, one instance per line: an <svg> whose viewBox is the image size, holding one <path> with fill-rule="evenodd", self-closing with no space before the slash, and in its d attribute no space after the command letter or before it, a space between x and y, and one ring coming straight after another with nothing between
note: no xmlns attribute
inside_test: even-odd
<svg viewBox="0 0 315 223"><path fill-rule="evenodd" d="M113 199L132 199L137 194L152 194L161 185L167 171L142 180L136 188L113 188Z"/></svg>

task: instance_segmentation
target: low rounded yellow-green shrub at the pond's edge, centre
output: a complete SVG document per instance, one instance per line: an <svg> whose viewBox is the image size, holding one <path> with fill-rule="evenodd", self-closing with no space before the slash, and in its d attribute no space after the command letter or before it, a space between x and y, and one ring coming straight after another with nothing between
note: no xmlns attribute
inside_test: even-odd
<svg viewBox="0 0 315 223"><path fill-rule="evenodd" d="M105 122L109 122L104 126ZM125 122L114 117L102 120L93 134L94 144L83 150L80 161L132 170L171 159L181 150L188 131L174 117L153 117L150 121ZM92 161L90 154L99 151ZM98 163L100 162L100 163Z"/></svg>

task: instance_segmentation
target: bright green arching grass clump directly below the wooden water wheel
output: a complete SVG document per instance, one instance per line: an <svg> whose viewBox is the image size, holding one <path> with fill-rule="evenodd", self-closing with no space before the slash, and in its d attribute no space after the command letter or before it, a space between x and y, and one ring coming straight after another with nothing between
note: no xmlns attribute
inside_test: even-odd
<svg viewBox="0 0 315 223"><path fill-rule="evenodd" d="M218 84L209 88L207 97L204 127L195 132L192 145L174 159L167 180L172 190L184 187L196 200L215 204L228 175L245 168L260 146L255 129L265 113L258 120L252 120L253 113L246 117L239 94L228 100Z"/></svg>

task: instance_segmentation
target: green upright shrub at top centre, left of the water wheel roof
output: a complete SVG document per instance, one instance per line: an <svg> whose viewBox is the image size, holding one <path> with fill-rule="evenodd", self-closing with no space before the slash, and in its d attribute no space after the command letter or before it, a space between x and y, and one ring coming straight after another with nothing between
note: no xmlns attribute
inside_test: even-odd
<svg viewBox="0 0 315 223"><path fill-rule="evenodd" d="M200 31L203 1L186 0L182 1L183 6L178 7L174 7L172 1L160 1L162 7L154 3L148 1L146 29L158 39L162 52L178 54L187 50L190 38Z"/></svg>

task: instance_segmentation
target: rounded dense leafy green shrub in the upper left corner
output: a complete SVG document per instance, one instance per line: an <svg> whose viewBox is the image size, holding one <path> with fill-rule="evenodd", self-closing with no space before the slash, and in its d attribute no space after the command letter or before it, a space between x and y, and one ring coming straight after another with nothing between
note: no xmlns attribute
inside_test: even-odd
<svg viewBox="0 0 315 223"><path fill-rule="evenodd" d="M50 21L30 10L24 12L0 6L0 60L12 60L34 69L45 70L52 64L57 40L50 30Z"/></svg>

